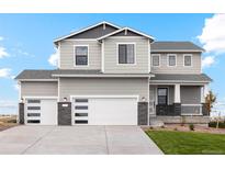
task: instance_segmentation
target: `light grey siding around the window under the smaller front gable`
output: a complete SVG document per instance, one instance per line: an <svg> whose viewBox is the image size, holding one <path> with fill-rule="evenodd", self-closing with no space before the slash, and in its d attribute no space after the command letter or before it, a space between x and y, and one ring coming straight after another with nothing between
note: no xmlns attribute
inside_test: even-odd
<svg viewBox="0 0 225 169"><path fill-rule="evenodd" d="M117 43L135 43L136 64L117 65ZM105 38L104 40L104 72L105 74L146 74L148 72L148 40L147 38Z"/></svg>

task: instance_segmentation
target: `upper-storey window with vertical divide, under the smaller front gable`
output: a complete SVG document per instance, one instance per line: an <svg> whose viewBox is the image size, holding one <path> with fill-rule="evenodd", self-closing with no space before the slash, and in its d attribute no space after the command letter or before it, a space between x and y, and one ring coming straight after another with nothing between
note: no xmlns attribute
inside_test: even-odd
<svg viewBox="0 0 225 169"><path fill-rule="evenodd" d="M135 64L134 44L119 44L119 64Z"/></svg>

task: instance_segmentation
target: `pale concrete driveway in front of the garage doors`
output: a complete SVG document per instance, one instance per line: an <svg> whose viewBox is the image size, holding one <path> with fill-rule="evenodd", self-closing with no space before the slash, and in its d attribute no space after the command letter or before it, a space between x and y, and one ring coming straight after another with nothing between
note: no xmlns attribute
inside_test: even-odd
<svg viewBox="0 0 225 169"><path fill-rule="evenodd" d="M138 126L16 126L0 132L0 154L162 154Z"/></svg>

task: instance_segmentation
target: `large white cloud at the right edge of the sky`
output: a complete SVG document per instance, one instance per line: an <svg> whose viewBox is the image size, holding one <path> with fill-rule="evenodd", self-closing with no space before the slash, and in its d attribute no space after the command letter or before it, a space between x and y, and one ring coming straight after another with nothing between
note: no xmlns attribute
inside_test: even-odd
<svg viewBox="0 0 225 169"><path fill-rule="evenodd" d="M225 53L225 14L205 19L202 34L198 36L207 53Z"/></svg>

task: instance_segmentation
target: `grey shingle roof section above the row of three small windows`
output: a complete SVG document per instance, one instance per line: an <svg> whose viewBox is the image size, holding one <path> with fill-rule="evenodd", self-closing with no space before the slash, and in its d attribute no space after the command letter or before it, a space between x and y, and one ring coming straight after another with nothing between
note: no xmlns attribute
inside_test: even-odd
<svg viewBox="0 0 225 169"><path fill-rule="evenodd" d="M204 48L192 42L154 42L151 52L204 52Z"/></svg>

